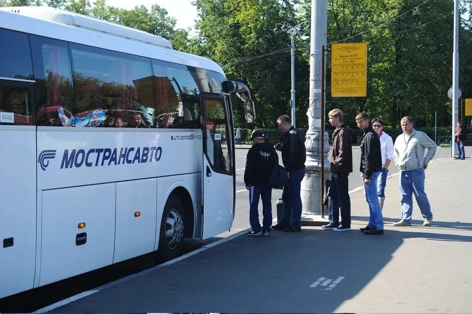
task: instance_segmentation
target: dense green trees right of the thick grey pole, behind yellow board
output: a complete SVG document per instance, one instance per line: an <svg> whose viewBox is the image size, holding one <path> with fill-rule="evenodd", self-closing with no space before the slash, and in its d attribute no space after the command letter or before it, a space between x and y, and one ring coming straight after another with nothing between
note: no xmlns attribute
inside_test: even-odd
<svg viewBox="0 0 472 314"><path fill-rule="evenodd" d="M452 76L452 2L364 0L359 5L357 0L328 0L328 43L368 43L368 95L332 98L328 93L326 110L340 108L346 121L367 111L393 126L407 115L416 126L432 126L437 111L440 125L451 124L446 92ZM470 30L461 29L462 69L471 65L466 52L471 36ZM329 60L327 70L329 86ZM471 82L469 77L462 71L460 81ZM463 92L468 86L461 83Z"/></svg>

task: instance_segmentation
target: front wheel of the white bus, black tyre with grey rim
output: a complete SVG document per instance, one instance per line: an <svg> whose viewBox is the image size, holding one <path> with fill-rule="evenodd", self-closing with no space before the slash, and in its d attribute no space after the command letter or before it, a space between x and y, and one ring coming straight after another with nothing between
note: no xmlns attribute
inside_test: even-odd
<svg viewBox="0 0 472 314"><path fill-rule="evenodd" d="M162 214L157 262L169 261L180 256L184 234L183 218L182 202L176 195L171 195Z"/></svg>

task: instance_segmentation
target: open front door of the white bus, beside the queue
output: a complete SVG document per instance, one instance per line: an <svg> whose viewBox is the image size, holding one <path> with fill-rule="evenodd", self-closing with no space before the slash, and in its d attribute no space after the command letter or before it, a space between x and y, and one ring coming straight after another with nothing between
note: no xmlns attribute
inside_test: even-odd
<svg viewBox="0 0 472 314"><path fill-rule="evenodd" d="M203 235L231 228L235 207L234 136L231 110L224 94L202 93Z"/></svg>

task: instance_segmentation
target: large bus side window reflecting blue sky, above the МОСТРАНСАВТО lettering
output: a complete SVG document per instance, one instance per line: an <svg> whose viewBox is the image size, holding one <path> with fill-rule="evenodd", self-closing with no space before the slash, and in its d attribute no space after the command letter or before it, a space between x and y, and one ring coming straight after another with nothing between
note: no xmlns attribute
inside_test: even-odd
<svg viewBox="0 0 472 314"><path fill-rule="evenodd" d="M74 65L76 116L100 113L94 125L106 128L155 128L146 103L152 86L137 82L152 77L150 59L79 44L70 44Z"/></svg>

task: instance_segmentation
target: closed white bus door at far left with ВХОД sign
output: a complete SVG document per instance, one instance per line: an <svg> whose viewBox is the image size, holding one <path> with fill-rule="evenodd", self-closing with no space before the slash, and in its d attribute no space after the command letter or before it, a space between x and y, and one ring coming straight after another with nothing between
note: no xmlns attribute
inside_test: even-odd
<svg viewBox="0 0 472 314"><path fill-rule="evenodd" d="M0 78L0 298L33 288L36 127L33 81Z"/></svg>

